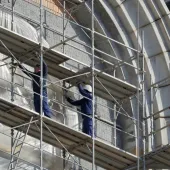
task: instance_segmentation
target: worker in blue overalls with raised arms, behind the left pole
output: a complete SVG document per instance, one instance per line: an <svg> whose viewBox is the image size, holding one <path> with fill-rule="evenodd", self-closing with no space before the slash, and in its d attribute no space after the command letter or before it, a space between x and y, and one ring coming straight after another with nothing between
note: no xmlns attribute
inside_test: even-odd
<svg viewBox="0 0 170 170"><path fill-rule="evenodd" d="M34 108L35 111L40 113L41 112L41 97L40 97L40 91L41 91L41 69L40 65L36 64L34 68L34 72L31 72L27 70L25 67L23 67L21 64L18 65L21 70L32 79L32 86L33 86L33 92L34 92ZM47 79L47 65L45 62L43 62L43 112L44 115L47 117L51 117L51 111L48 105L48 98L47 98L47 88L46 85L46 79Z"/></svg>

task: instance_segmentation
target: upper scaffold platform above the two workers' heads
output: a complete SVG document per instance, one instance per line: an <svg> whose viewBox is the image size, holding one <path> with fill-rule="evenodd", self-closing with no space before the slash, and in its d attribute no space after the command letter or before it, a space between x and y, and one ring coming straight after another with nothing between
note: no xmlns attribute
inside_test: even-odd
<svg viewBox="0 0 170 170"><path fill-rule="evenodd" d="M13 31L10 31L4 27L0 27L0 52L12 57L12 54L21 62L34 66L38 59L35 57L36 53L39 52L39 44L26 37L21 36ZM4 47L4 45L7 49ZM12 52L12 54L10 53ZM73 60L79 64L82 64L87 70L87 74L91 74L91 67L81 61L78 61L64 53L44 47L44 58L48 65L48 72L50 75L59 78L60 80L67 79L69 83L75 83L77 80L80 81L91 81L91 76L78 76L82 71L75 72L63 66L62 63ZM107 100L112 100L113 97L118 99L124 99L134 95L137 92L137 88L111 76L103 71L94 69L95 74L95 95L100 96ZM77 76L77 77L76 77ZM74 77L74 80L73 78ZM74 84L73 84L74 85Z"/></svg>

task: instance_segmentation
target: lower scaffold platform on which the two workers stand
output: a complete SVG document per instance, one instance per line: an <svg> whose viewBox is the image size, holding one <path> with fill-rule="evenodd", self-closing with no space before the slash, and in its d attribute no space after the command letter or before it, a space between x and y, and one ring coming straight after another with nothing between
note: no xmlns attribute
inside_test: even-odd
<svg viewBox="0 0 170 170"><path fill-rule="evenodd" d="M40 139L40 130L37 128L40 126L40 116L34 111L0 98L0 122L4 125L20 130L20 125L29 123L30 117L34 117L33 122L37 120L37 123L31 123L28 135ZM46 117L43 117L43 141L62 149L64 146L69 153L92 162L90 136ZM95 139L96 165L108 170L123 170L136 161L135 155Z"/></svg>

